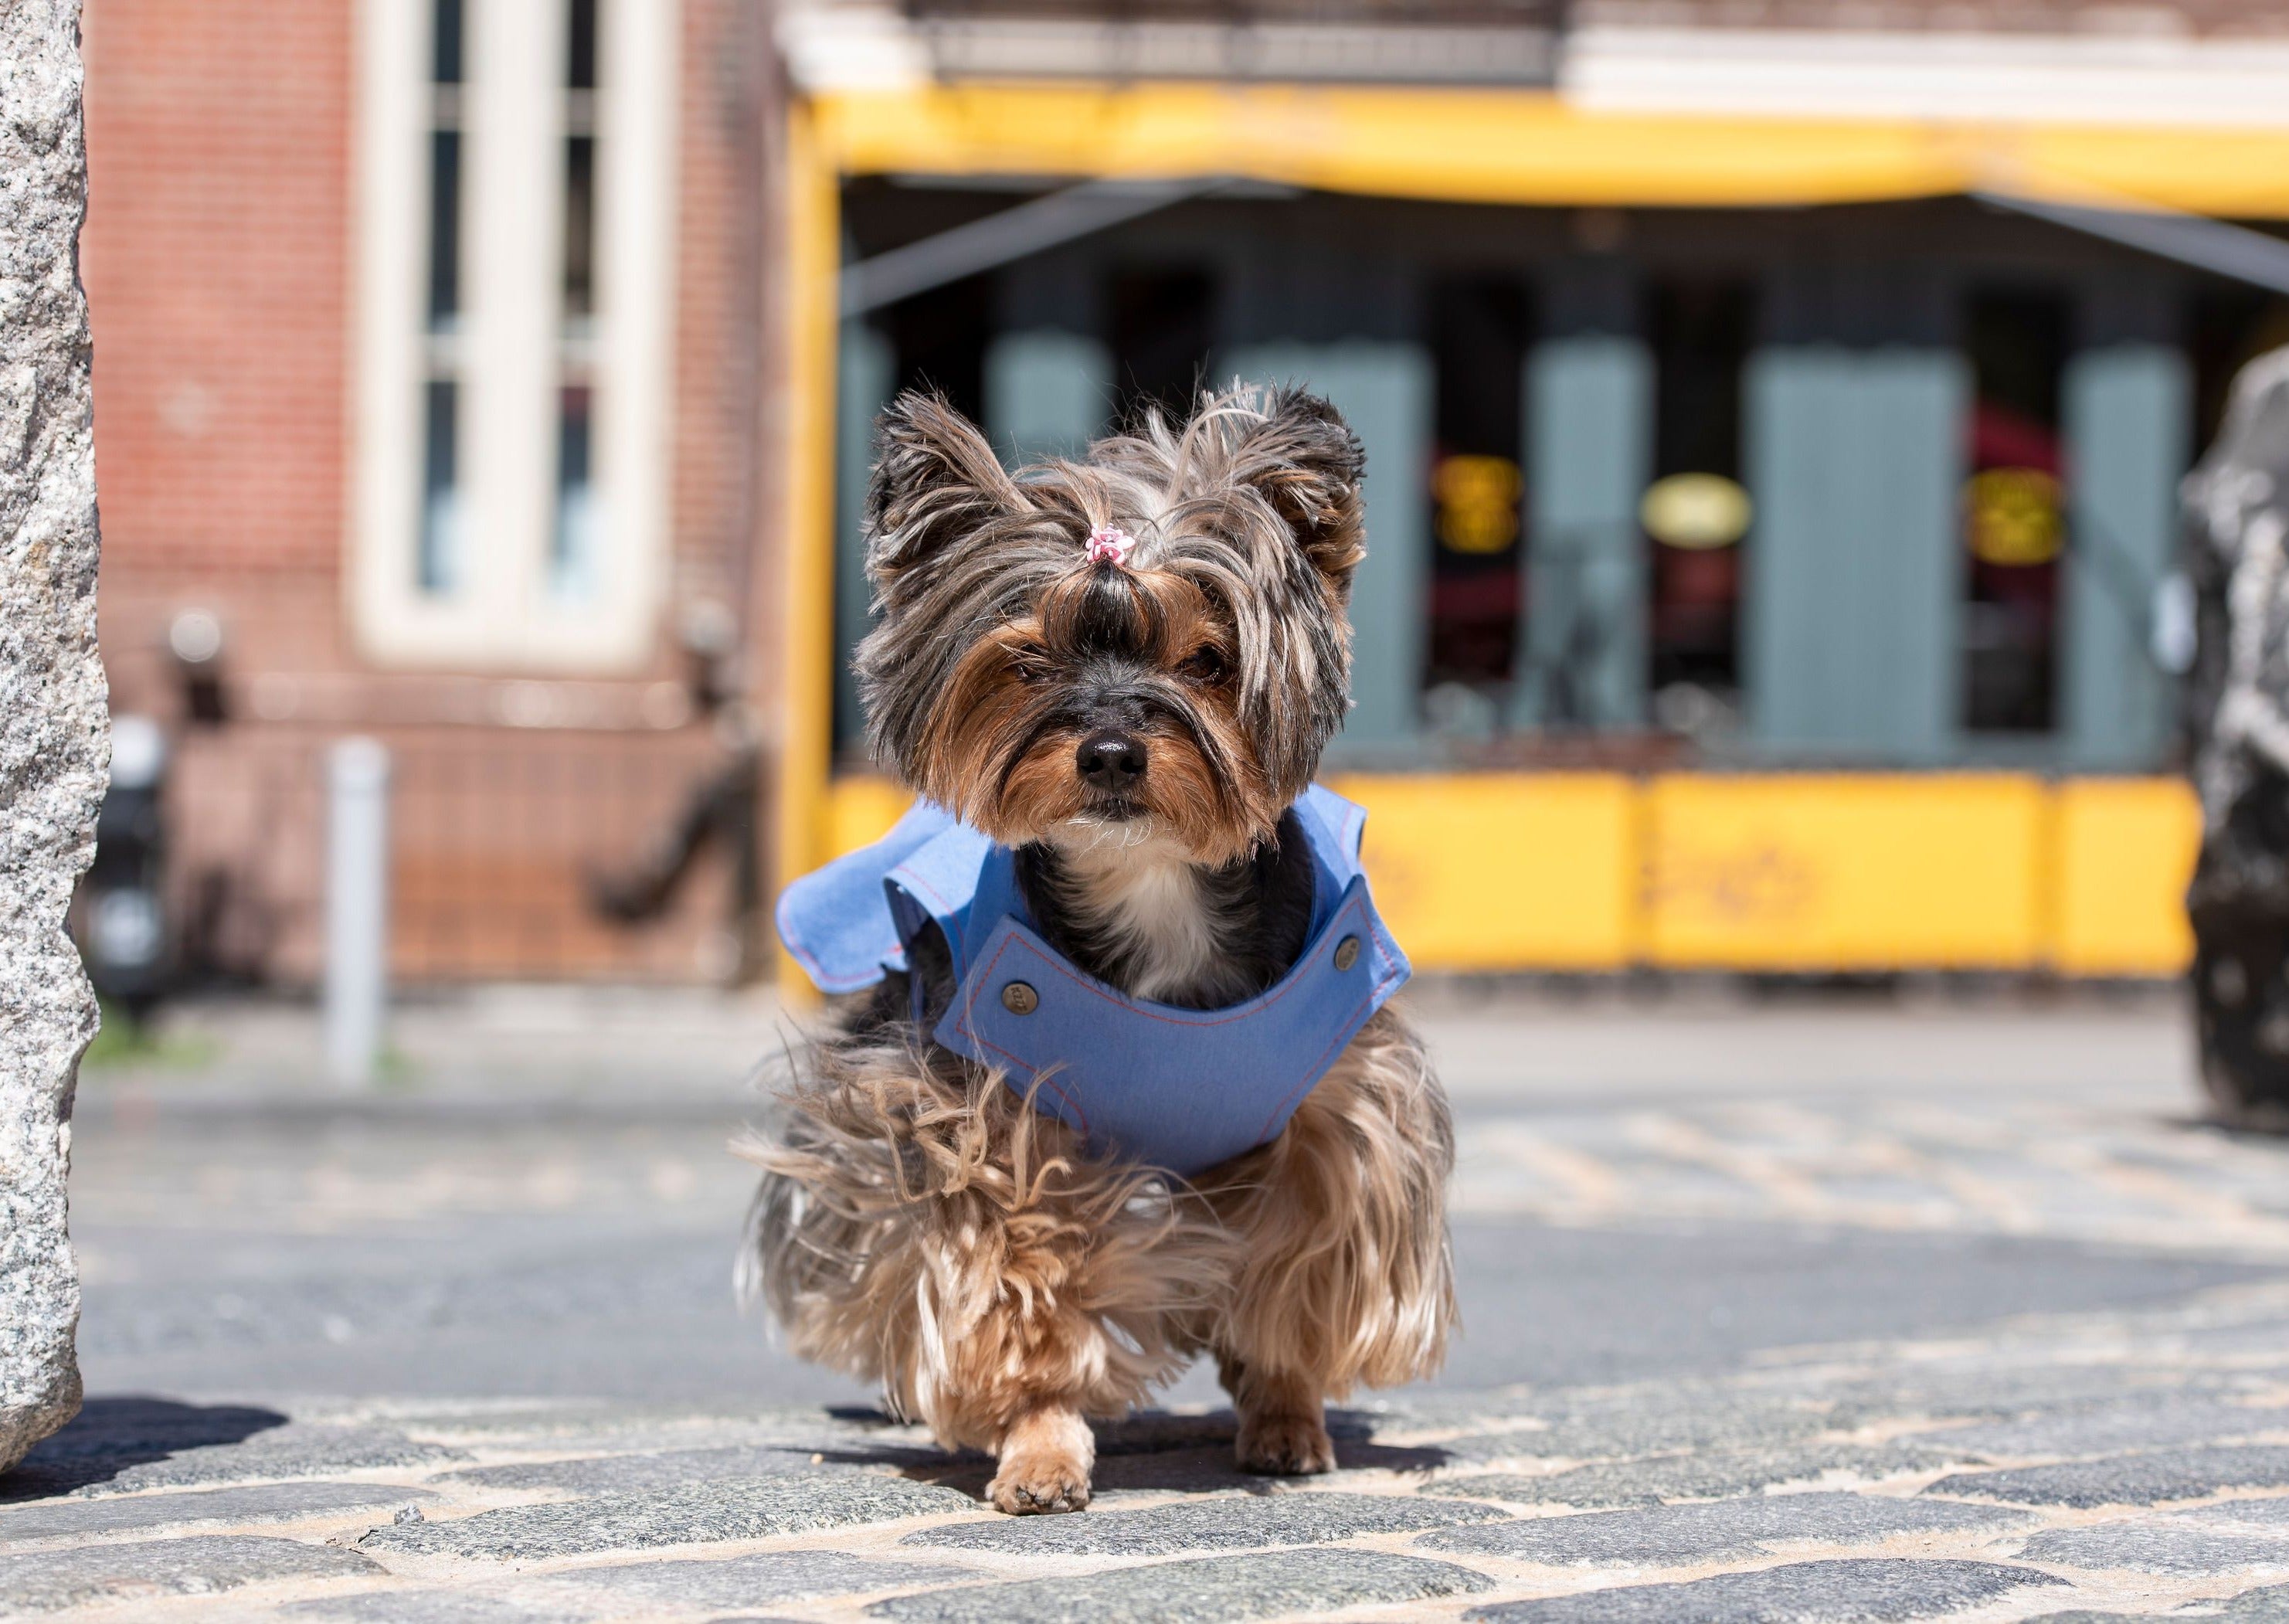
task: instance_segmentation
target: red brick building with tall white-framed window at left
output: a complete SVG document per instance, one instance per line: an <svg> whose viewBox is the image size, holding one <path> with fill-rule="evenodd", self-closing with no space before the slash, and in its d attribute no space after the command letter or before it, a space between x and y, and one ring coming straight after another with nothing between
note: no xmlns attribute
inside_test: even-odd
<svg viewBox="0 0 2289 1624"><path fill-rule="evenodd" d="M774 73L744 0L92 0L103 653L195 973L309 980L391 744L412 978L728 973ZM636 886L641 889L641 884ZM625 912L625 909L623 909Z"/></svg>

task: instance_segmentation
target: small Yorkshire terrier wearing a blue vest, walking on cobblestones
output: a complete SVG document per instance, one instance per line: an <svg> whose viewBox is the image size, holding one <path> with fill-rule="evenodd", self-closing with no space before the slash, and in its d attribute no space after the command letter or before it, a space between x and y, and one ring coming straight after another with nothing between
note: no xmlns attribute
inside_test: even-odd
<svg viewBox="0 0 2289 1624"><path fill-rule="evenodd" d="M842 889L810 923L781 909L797 953L840 932L861 962L838 980L822 948L826 990L877 985L742 1145L742 1287L794 1351L993 1452L1005 1512L1087 1505L1090 1418L1197 1354L1257 1473L1330 1471L1325 1400L1444 1358L1447 1099L1383 1006L1405 960L1355 809L1312 788L1348 705L1362 463L1293 389L1016 474L943 399L879 424L856 664L920 804L815 877ZM941 905L948 873L984 900ZM1007 964L1037 969L996 992Z"/></svg>

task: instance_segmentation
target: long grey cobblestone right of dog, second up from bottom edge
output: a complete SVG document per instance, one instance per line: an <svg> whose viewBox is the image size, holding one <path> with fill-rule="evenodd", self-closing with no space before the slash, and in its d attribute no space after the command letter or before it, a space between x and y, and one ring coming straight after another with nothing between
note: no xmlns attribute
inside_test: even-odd
<svg viewBox="0 0 2289 1624"><path fill-rule="evenodd" d="M2035 1521L2005 1507L1902 1500L1872 1493L1772 1493L1744 1500L1664 1505L1648 1512L1536 1516L1481 1528L1442 1528L1415 1544L1458 1555L1506 1555L1520 1562L1664 1564L1769 1553L1817 1539L1875 1544L1898 1535L1955 1535Z"/></svg>

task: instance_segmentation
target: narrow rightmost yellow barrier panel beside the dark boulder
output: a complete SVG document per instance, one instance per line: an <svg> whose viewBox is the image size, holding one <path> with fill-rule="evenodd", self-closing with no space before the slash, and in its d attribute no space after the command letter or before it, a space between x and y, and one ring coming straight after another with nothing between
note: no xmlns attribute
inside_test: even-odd
<svg viewBox="0 0 2289 1624"><path fill-rule="evenodd" d="M2058 788L2051 962L2065 976L2175 976L2193 957L2186 882L2202 806L2177 779Z"/></svg>

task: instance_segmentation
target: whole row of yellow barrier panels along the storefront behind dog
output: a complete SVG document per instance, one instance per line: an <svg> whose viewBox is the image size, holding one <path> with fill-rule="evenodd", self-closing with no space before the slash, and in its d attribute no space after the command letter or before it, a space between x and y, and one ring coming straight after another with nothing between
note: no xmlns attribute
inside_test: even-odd
<svg viewBox="0 0 2289 1624"><path fill-rule="evenodd" d="M2177 779L1353 774L1367 870L1426 971L2042 969L2172 976L2200 813ZM831 848L897 786L833 783Z"/></svg>

